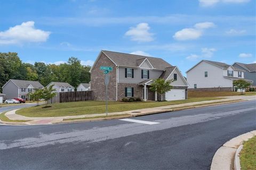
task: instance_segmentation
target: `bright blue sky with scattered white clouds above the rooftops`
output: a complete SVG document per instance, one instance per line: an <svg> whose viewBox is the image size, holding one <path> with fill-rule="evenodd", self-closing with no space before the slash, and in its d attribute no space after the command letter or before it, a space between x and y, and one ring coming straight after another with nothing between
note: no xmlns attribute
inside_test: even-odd
<svg viewBox="0 0 256 170"><path fill-rule="evenodd" d="M197 62L255 58L253 0L1 1L0 52L23 62L92 65L101 49Z"/></svg>

